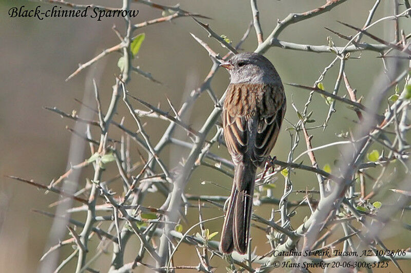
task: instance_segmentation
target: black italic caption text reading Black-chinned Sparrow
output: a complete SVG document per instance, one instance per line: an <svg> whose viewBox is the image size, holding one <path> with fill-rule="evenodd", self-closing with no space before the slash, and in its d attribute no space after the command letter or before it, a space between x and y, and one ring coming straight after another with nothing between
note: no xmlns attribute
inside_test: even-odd
<svg viewBox="0 0 411 273"><path fill-rule="evenodd" d="M41 6L37 6L35 9L28 9L25 6L12 7L9 9L10 17L32 17L43 20L48 17L59 17L59 18L76 18L76 17L90 17L96 18L98 21L104 18L118 18L118 17L136 17L138 15L138 10L122 10L122 9L102 9L102 8L91 8L87 6L84 9L63 9L62 7L54 6L51 9L43 10Z"/></svg>

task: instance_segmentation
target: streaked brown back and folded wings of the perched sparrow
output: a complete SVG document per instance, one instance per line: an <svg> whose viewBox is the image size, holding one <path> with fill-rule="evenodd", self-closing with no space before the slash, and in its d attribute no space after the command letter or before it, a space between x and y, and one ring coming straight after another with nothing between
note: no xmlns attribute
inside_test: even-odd
<svg viewBox="0 0 411 273"><path fill-rule="evenodd" d="M258 92L263 88L265 92ZM255 166L269 156L286 112L281 84L230 84L222 124L228 151L238 164L249 151ZM250 130L256 130L255 134Z"/></svg>

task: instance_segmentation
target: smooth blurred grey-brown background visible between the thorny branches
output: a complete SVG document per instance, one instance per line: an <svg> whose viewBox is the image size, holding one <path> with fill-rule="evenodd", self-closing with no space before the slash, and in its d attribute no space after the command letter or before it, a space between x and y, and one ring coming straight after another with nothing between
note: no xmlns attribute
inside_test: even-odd
<svg viewBox="0 0 411 273"><path fill-rule="evenodd" d="M157 0L157 2L164 5L180 3L180 7L184 10L211 17L211 20L201 20L209 23L216 33L226 35L233 41L233 44L236 44L241 38L252 19L249 1ZM76 3L91 4L85 1L77 1ZM261 26L265 37L275 27L278 18L285 18L291 12L305 12L324 3L324 0L258 1ZM354 32L340 25L336 20L362 27L368 16L368 11L374 3L373 0L347 1L330 12L288 27L279 38L293 43L326 45L327 36L331 36L336 45L344 46L346 44L344 40L331 34L324 27L351 35ZM393 3L394 1L382 1L375 18L392 15ZM120 1L98 1L96 4L121 7ZM15 175L49 184L52 179L57 179L65 173L67 164L70 163L68 162L70 142L76 138L76 141L81 142L82 140L65 129L66 125L70 128L74 127L73 121L62 119L59 115L47 111L43 107L57 107L66 113L71 113L73 110L79 112L81 105L74 99L83 100L84 97L89 97L92 94L90 77L94 76L98 79L102 107L105 111L111 97L111 86L115 83L114 74L119 73L117 67L119 54L110 54L69 81L66 82L65 79L76 70L79 63L84 63L105 48L119 43L118 37L111 30L113 25L116 25L117 29L124 33L124 22L121 19L104 18L101 22L89 17L38 20L35 18L10 18L7 15L11 7L22 5L27 8L35 8L38 5L41 5L42 9L52 8L52 5L46 3L0 1L0 143L2 147L2 156L0 157L0 271L3 272L36 271L40 265L39 259L47 249L47 238L52 219L38 215L31 209L38 208L53 212L54 208L48 208L48 205L58 200L57 195L51 193L45 195L44 191L5 176ZM146 5L133 4L132 8L139 10L139 15L133 20L134 23L161 16L160 10L152 9ZM407 18L400 20L400 26L404 28L405 33L411 31L409 23ZM373 27L371 33L392 40L393 35L390 34L392 28L393 23L385 21ZM146 72L151 72L154 78L164 84L158 85L140 75L133 74L128 90L134 96L154 105L161 103L163 110L169 110L166 96L178 109L189 92L200 86L212 65L208 53L192 38L190 32L206 41L216 52L220 52L221 55L226 54L226 49L212 38L208 38L207 33L189 17L177 18L170 23L148 26L139 29L139 31L145 33L145 40L138 53L138 58L134 60L134 65L140 66ZM363 39L370 41L367 38ZM244 51L255 50L254 30L251 31L249 38L241 48ZM373 80L380 75L382 62L376 58L375 52L354 53L352 55L361 58L349 60L345 71L351 86L357 89L358 97L364 95L366 98L373 85ZM333 60L334 55L332 53L316 54L271 48L266 53L266 57L273 62L283 82L311 86L320 76L324 67ZM338 65L328 72L323 81L326 90L332 91L337 73ZM212 81L212 88L217 96L223 93L228 82L228 73L218 70ZM342 83L340 94L345 94L345 92ZM297 117L290 103L293 101L298 109L303 109L308 93L305 90L297 90L287 86L286 94L289 103L286 118L295 122ZM91 106L95 107L94 100L89 101L92 103ZM132 103L136 108L146 110L134 101ZM203 93L192 109L194 111L189 114L189 123L193 128L198 129L212 109L213 103L210 97L207 93ZM314 95L314 100L309 108L309 111L312 110L315 111L311 118L316 120L312 125L323 124L328 106L321 96ZM137 130L123 103L119 107L115 120L120 122L122 116L125 116L124 124L127 128L133 131ZM168 122L152 118L142 118L142 120L147 122L145 130L150 134L151 141L156 143ZM355 113L337 103L337 113L332 116L331 124L327 130L325 132L322 129L311 130L310 133L314 136L313 146L337 141L338 138L335 134L354 128L356 125L354 120L356 120ZM287 127L289 125L285 123L273 152L277 159L283 161L287 160L291 145L289 133L284 130ZM113 127L111 129L113 129L111 137L119 139L120 132ZM185 138L182 132L177 132L177 136ZM305 149L305 143L302 141L296 155ZM376 146L371 149L381 150L381 147ZM229 158L228 153L223 148L217 149L215 147L212 151ZM182 150L178 146L170 146L162 152L161 156L166 164L173 167L187 152L188 150ZM136 150L132 150L132 153L134 153L132 157L137 160ZM333 146L317 151L315 155L322 167L327 163L333 166L334 160L339 158L340 153L338 146ZM90 152L86 149L82 160L88 157L90 157ZM305 163L309 164L307 156L303 159ZM81 161L71 163L77 164ZM401 178L403 172L401 166L397 171ZM115 169L108 169L104 174L105 179L110 178L110 172L113 175ZM94 171L91 166L84 169L79 180L80 183L84 183L84 178L90 177L92 173ZM201 184L204 180L217 182L227 188L231 187L232 182L227 176L201 166L191 177L186 187L186 193L194 195L229 194L228 191L224 192L225 190L221 190L213 184ZM292 182L295 190L311 189L317 184L314 175L307 175L302 171L292 176ZM278 191L275 197L280 197L283 192L284 178L279 176L276 184ZM297 200L301 199L302 196L294 194L291 200L293 198ZM383 198L384 196L380 195L373 201ZM154 193L146 197L144 204L158 207L163 201L161 195ZM272 207L270 205L256 206L255 212L268 218ZM198 222L196 210L193 209L192 212L191 214L189 212L188 215L191 225ZM293 227L297 227L301 223L306 216L305 213L308 213L305 209L298 211L298 214L292 218ZM203 211L204 218L219 215L221 215L221 211L216 208L204 209ZM81 220L82 217L84 218L84 214L73 215L73 218L78 220ZM405 215L404 221L407 219L409 222L409 216ZM213 221L208 223L206 227L211 232L219 232L221 222L221 220ZM184 224L184 231L191 225ZM257 253L264 254L269 250L265 234L257 229L253 229L252 233L253 245L257 246ZM68 237L62 239L66 238ZM90 248L98 244L96 238ZM395 225L387 226L387 232L384 233L382 239L385 240L389 249L407 248L410 243L409 234ZM259 243L256 245L257 241ZM133 248L137 249L137 240L130 241L127 247L129 248L126 251L125 262L130 262L135 258ZM71 251L70 246L63 247L60 261L67 257ZM93 267L104 272L108 268L110 260L111 256L104 254ZM197 265L198 257L193 248L182 245L176 254L175 264ZM221 266L223 264L215 259L212 261L212 265ZM400 265L405 271L411 270L410 262L400 261ZM71 262L63 271L72 271L74 266L75 263ZM391 264L390 268L393 268L394 271L397 270ZM141 267L136 268L135 271L148 272L150 270ZM225 271L224 267L217 269L217 272L220 271Z"/></svg>

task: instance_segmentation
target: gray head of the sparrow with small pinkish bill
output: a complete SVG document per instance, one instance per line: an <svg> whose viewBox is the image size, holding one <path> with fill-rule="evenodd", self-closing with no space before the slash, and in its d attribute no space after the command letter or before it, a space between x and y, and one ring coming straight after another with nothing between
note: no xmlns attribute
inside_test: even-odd
<svg viewBox="0 0 411 273"><path fill-rule="evenodd" d="M258 53L236 54L220 66L226 68L230 73L231 83L281 83L281 79L271 62Z"/></svg>

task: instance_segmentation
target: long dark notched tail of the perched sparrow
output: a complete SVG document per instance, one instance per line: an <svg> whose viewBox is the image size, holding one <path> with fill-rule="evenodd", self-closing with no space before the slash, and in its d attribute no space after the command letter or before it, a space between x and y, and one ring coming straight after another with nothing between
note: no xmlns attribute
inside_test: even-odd
<svg viewBox="0 0 411 273"><path fill-rule="evenodd" d="M241 254L247 252L255 172L256 167L251 162L240 162L235 166L233 188L221 232L222 253L231 253L234 248Z"/></svg>

